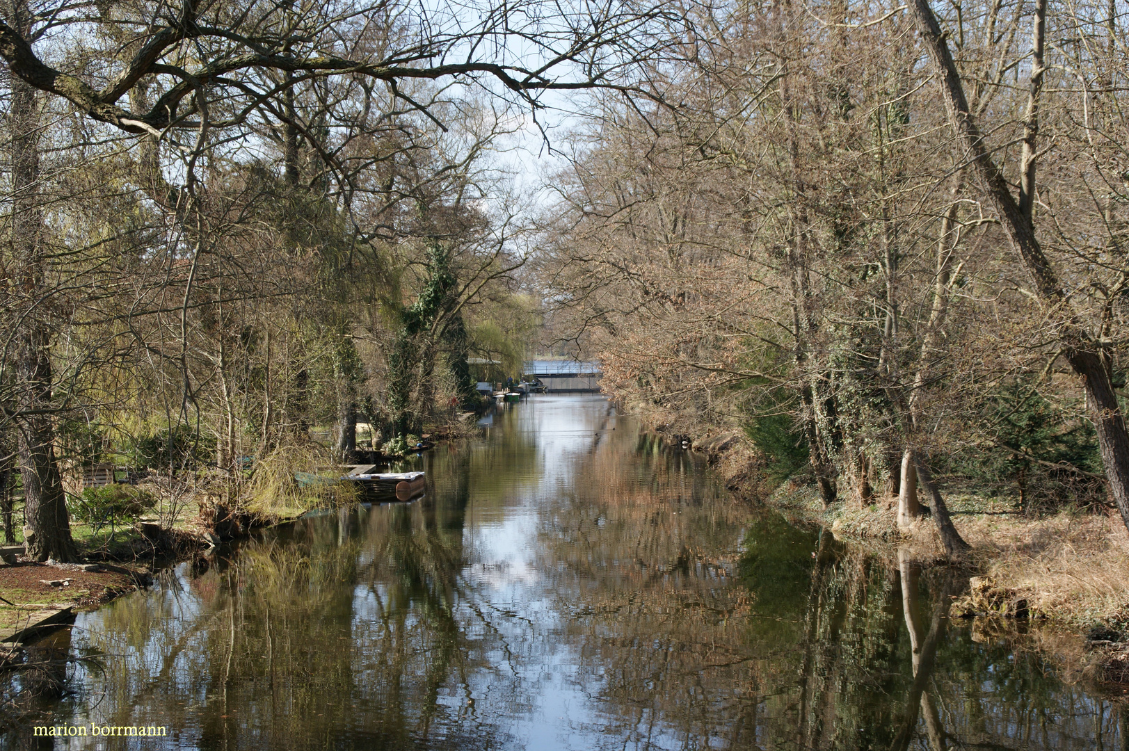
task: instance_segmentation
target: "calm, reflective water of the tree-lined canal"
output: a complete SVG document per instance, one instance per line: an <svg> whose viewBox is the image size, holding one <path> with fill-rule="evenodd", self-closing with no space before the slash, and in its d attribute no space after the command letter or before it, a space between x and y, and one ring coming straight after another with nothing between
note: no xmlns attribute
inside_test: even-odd
<svg viewBox="0 0 1129 751"><path fill-rule="evenodd" d="M1115 706L940 618L944 573L734 503L596 396L489 422L419 460L422 500L80 615L72 654L98 658L53 723L169 735L54 748L1124 748Z"/></svg>

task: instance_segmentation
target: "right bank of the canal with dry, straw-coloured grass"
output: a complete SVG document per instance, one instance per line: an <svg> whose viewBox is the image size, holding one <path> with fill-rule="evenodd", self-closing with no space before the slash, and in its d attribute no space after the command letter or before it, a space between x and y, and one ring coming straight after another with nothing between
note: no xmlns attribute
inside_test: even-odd
<svg viewBox="0 0 1129 751"><path fill-rule="evenodd" d="M794 523L822 526L879 556L949 562L930 517L910 530L898 529L896 498L824 507L814 483L768 479L742 436L688 443L707 455L736 496L779 510ZM1043 654L1068 680L1111 696L1129 693L1129 531L1117 512L1068 508L1029 516L1008 499L962 490L948 489L946 501L971 545L960 562L969 586L954 596L949 614L973 619L978 639L1003 639ZM1032 620L1052 628L1027 629Z"/></svg>

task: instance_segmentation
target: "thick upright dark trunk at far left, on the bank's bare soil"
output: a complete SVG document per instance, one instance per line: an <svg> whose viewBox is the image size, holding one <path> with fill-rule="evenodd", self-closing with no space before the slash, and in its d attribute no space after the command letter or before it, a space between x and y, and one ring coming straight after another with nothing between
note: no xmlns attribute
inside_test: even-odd
<svg viewBox="0 0 1129 751"><path fill-rule="evenodd" d="M17 30L30 37L32 14L26 0L12 2L11 19ZM19 395L17 417L19 463L24 479L24 514L30 535L27 554L35 560L73 561L78 558L71 539L65 496L55 464L55 434L51 411L50 306L43 298L46 269L43 257L43 206L40 200L40 113L35 90L12 78L9 128L11 138L12 221L11 244L15 283L20 316L15 333L15 367Z"/></svg>

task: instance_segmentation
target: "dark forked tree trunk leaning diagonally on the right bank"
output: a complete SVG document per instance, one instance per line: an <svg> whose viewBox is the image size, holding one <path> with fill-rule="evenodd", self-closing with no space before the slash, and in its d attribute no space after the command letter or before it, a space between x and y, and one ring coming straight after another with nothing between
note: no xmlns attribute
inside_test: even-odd
<svg viewBox="0 0 1129 751"><path fill-rule="evenodd" d="M1038 131L1038 103L1042 80L1042 34L1044 24L1040 18L1041 0L1036 3L1033 28L1031 88L1025 123L1025 142L1030 134L1034 143L1034 131ZM1054 308L1067 309L1069 302L1059 282L1042 245L1035 236L1032 216L1027 211L1035 192L1034 186L1034 150L1029 155L1024 151L1023 199L1024 204L1012 195L1007 181L991 158L983 142L980 129L969 111L968 99L961 81L956 63L948 50L948 42L940 32L937 18L929 7L928 0L913 0L911 3L918 33L921 35L933 59L934 66L942 75L942 95L948 121L961 146L972 158L972 166L984 183L988 197L999 213L1000 224L1012 241L1024 267L1031 274L1040 299ZM1045 6L1042 5L1042 12ZM1026 149L1026 146L1024 147ZM1118 404L1105 356L1082 326L1076 316L1070 316L1061 326L1064 355L1074 372L1082 376L1086 392L1086 405L1091 419L1097 430L1097 445L1105 466L1105 477L1110 483L1121 519L1129 527L1129 433L1126 431L1124 417Z"/></svg>

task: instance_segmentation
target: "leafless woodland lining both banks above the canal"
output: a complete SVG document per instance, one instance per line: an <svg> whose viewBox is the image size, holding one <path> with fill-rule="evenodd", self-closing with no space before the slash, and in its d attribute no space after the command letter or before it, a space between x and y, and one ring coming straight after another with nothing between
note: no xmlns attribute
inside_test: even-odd
<svg viewBox="0 0 1129 751"><path fill-rule="evenodd" d="M1124 2L0 5L0 479L40 559L76 466L238 494L539 337L765 482L903 525L921 492L951 556L943 478L1129 524ZM558 110L531 201L499 150Z"/></svg>

